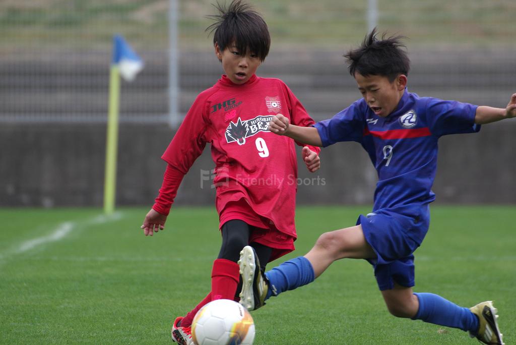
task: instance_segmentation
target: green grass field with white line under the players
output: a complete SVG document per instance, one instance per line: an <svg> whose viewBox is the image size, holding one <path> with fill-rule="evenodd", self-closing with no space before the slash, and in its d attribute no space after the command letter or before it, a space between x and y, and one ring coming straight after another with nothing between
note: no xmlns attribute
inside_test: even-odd
<svg viewBox="0 0 516 345"><path fill-rule="evenodd" d="M367 207L297 211L297 250L354 225ZM2 209L0 343L166 344L171 321L204 297L219 249L213 208L176 208L144 237L147 209ZM416 256L415 291L463 306L495 300L507 344L516 342L514 207L432 207ZM459 330L389 315L370 265L335 262L315 283L252 313L255 344L475 344Z"/></svg>

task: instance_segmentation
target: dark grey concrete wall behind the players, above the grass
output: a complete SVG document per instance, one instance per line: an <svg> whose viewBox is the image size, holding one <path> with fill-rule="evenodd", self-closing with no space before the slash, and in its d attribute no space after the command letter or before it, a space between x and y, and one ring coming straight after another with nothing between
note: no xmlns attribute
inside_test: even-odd
<svg viewBox="0 0 516 345"><path fill-rule="evenodd" d="M105 126L3 125L0 128L0 206L102 206ZM439 202L516 203L516 121L478 134L441 138L434 192ZM120 129L117 205L151 205L162 182L160 155L173 131L166 126ZM512 144L511 144L512 143ZM376 172L356 143L321 153L322 169L310 174L299 162L299 204L370 203ZM183 181L178 205L212 205L214 190L202 181L213 168L206 148Z"/></svg>

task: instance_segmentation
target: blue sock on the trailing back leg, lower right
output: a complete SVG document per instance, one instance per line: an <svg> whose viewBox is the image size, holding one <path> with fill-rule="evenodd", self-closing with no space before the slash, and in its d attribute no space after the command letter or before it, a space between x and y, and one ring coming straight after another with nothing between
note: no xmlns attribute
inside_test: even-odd
<svg viewBox="0 0 516 345"><path fill-rule="evenodd" d="M462 331L478 331L478 318L470 309L460 307L433 293L414 293L420 302L412 320L423 320L437 325L460 328Z"/></svg>

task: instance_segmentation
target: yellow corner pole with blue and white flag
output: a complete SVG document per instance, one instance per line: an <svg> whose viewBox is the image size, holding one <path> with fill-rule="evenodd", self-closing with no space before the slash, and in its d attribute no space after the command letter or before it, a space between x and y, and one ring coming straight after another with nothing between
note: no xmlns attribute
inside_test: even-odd
<svg viewBox="0 0 516 345"><path fill-rule="evenodd" d="M113 38L113 58L109 73L109 110L107 117L106 166L104 179L104 213L115 210L118 114L120 105L120 75L125 81L132 81L143 68L143 61L127 44L122 36Z"/></svg>

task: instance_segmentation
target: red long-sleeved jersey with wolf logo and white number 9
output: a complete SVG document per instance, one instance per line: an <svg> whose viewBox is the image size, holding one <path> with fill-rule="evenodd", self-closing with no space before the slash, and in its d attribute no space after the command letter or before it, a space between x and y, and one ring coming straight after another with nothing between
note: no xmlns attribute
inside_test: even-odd
<svg viewBox="0 0 516 345"><path fill-rule="evenodd" d="M253 75L247 83L236 85L223 75L199 94L163 154L173 168L169 203L164 205L164 198L158 197L154 209L168 213L183 176L210 143L220 226L241 219L262 228L275 227L296 238L294 140L267 131L271 117L280 113L298 126L314 123L281 80ZM320 152L318 147L310 148ZM241 212L246 208L243 200L254 214Z"/></svg>

